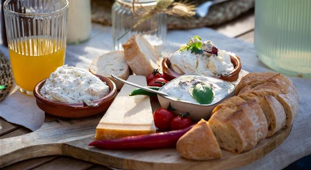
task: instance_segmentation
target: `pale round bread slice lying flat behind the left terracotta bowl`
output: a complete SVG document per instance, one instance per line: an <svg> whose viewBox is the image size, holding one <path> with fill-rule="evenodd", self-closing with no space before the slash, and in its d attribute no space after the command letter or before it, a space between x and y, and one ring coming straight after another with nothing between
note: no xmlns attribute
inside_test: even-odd
<svg viewBox="0 0 311 170"><path fill-rule="evenodd" d="M121 89L122 82L111 77L111 74L126 80L130 75L130 68L126 64L125 56L122 51L114 51L97 57L89 67L93 74L98 74L111 79L115 82L117 89Z"/></svg>

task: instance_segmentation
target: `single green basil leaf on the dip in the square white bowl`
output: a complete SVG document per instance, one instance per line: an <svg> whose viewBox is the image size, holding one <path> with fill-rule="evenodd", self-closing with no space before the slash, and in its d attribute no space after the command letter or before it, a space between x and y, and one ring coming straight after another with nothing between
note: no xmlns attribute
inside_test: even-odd
<svg viewBox="0 0 311 170"><path fill-rule="evenodd" d="M209 85L201 82L189 88L189 93L194 100L200 104L210 104L215 96L215 93Z"/></svg>

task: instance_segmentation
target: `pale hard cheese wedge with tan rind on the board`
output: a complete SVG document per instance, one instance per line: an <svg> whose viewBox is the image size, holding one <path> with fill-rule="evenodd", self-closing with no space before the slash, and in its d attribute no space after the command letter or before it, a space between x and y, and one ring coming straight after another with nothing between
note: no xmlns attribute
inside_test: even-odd
<svg viewBox="0 0 311 170"><path fill-rule="evenodd" d="M130 75L130 82L147 86L145 76ZM135 87L124 85L96 128L95 139L115 139L124 136L152 134L156 132L150 99L148 96L128 94Z"/></svg>

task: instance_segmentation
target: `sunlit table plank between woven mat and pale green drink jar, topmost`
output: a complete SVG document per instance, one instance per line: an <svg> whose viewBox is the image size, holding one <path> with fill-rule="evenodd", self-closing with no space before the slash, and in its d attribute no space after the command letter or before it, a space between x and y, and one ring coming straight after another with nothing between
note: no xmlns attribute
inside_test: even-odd
<svg viewBox="0 0 311 170"><path fill-rule="evenodd" d="M255 15L251 10L248 13L228 22L223 25L212 27L221 34L225 34L229 37L236 37L253 30L255 28Z"/></svg>

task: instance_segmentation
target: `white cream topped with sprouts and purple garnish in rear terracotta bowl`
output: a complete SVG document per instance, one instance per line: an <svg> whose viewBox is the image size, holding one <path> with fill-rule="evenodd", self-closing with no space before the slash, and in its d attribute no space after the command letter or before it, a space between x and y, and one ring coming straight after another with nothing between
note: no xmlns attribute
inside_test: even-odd
<svg viewBox="0 0 311 170"><path fill-rule="evenodd" d="M198 39L194 39L200 41ZM180 74L193 73L202 74L206 76L216 77L221 73L228 73L233 71L234 67L231 63L230 55L235 55L225 50L219 50L217 55L210 54L205 51L210 51L214 46L211 41L201 41L202 54L195 54L191 50L178 50L168 56L171 68Z"/></svg>

